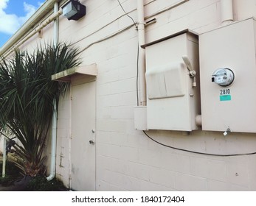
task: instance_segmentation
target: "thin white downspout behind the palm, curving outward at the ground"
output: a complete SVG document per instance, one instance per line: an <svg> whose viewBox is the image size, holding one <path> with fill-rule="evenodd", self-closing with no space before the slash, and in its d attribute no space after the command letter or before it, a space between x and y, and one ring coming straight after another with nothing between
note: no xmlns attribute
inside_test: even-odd
<svg viewBox="0 0 256 206"><path fill-rule="evenodd" d="M59 5L58 2L54 5L54 13L58 13ZM53 25L53 43L56 47L58 45L59 36L59 20L55 18ZM56 99L53 101L53 114L52 114L52 149L51 149L51 164L50 174L46 179L52 180L56 174L56 145L57 145L57 102Z"/></svg>

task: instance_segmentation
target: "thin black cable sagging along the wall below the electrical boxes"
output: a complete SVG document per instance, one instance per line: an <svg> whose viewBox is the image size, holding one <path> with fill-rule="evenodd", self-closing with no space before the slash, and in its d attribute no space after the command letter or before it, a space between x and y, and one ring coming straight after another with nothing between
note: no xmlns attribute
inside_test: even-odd
<svg viewBox="0 0 256 206"><path fill-rule="evenodd" d="M162 146L166 146L168 148L171 148L171 149L176 149L176 150L179 150L179 151L183 151L183 152L190 152L190 153L194 153L194 154L204 154L204 155L210 155L210 156L217 156L217 157L234 157L234 156L245 156L245 155L252 155L252 154L256 154L256 152L252 152L252 153L243 153L243 154L210 154L210 153L204 153L204 152L196 152L196 151L191 151L191 150L188 150L188 149L181 149L181 148L177 148L177 147L174 147L174 146L168 146L164 143L160 143L159 141L156 141L154 140L153 138L151 138L144 130L143 130L144 134L151 139L151 141L154 141Z"/></svg>

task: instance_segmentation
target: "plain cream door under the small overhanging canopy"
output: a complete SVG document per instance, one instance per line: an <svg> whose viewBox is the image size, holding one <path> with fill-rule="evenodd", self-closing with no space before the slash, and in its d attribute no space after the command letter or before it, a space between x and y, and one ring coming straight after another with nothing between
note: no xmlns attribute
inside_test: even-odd
<svg viewBox="0 0 256 206"><path fill-rule="evenodd" d="M95 82L74 82L71 108L71 188L75 191L95 191Z"/></svg>

